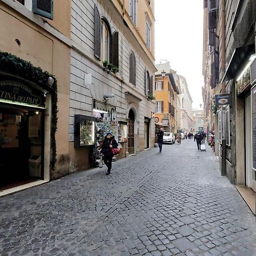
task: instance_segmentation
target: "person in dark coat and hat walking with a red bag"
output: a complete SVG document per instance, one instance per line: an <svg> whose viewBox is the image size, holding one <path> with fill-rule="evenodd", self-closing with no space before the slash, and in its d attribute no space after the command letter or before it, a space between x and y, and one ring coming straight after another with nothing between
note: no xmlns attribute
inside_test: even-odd
<svg viewBox="0 0 256 256"><path fill-rule="evenodd" d="M112 135L112 133L106 133L105 139L101 147L101 153L104 155L104 163L106 164L106 167L108 167L108 172L106 175L110 174L112 168L112 158L114 155L111 151L111 148L117 148L117 146L118 143L117 141L115 141L115 137Z"/></svg>

